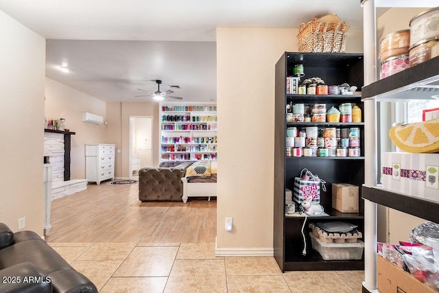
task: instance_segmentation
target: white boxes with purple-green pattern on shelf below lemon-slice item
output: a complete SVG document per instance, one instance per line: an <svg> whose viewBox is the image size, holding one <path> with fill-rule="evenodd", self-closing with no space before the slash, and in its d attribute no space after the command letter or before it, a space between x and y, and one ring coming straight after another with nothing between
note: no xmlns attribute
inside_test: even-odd
<svg viewBox="0 0 439 293"><path fill-rule="evenodd" d="M385 152L383 188L439 202L439 154Z"/></svg>

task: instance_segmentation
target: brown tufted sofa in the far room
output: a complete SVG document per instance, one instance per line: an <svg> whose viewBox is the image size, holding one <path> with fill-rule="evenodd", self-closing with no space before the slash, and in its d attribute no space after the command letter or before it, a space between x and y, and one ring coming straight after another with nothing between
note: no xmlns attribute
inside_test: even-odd
<svg viewBox="0 0 439 293"><path fill-rule="evenodd" d="M183 183L186 169L193 162L162 162L158 167L145 167L139 170L139 200L141 201L180 201L183 196Z"/></svg>

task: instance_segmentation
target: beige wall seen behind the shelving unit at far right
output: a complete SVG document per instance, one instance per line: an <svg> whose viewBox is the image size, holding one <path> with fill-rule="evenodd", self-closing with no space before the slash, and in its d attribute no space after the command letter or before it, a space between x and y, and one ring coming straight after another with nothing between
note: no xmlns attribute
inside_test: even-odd
<svg viewBox="0 0 439 293"><path fill-rule="evenodd" d="M381 39L392 32L410 29L410 19L423 11L425 8L391 8L377 19L377 58L381 50ZM425 222L385 207L380 207L378 212L379 240L385 242L398 243L399 240L407 240L414 226Z"/></svg>

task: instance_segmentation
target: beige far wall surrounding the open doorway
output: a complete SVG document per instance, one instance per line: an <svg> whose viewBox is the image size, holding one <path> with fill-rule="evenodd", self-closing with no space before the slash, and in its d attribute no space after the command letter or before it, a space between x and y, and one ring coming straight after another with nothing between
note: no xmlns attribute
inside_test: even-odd
<svg viewBox="0 0 439 293"><path fill-rule="evenodd" d="M152 116L152 163L158 166L158 103L108 103L108 141L117 143L121 152L117 153L116 176L129 178L129 138L130 116Z"/></svg>

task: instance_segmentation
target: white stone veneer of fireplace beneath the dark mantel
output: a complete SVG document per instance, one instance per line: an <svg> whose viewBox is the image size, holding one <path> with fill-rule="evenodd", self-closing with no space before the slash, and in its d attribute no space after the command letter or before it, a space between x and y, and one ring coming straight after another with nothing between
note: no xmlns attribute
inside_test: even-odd
<svg viewBox="0 0 439 293"><path fill-rule="evenodd" d="M64 181L64 134L44 133L44 156L52 165L52 183Z"/></svg>

